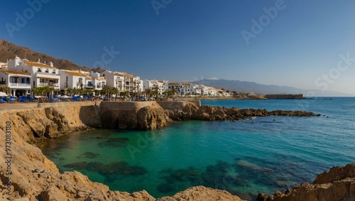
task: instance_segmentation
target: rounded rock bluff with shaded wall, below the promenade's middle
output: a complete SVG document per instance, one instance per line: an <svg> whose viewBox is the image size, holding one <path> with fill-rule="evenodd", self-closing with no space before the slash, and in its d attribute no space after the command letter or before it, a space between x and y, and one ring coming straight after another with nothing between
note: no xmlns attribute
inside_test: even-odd
<svg viewBox="0 0 355 201"><path fill-rule="evenodd" d="M107 129L162 129L171 122L156 102L102 102L101 121Z"/></svg>

